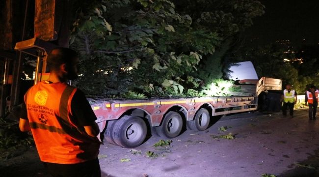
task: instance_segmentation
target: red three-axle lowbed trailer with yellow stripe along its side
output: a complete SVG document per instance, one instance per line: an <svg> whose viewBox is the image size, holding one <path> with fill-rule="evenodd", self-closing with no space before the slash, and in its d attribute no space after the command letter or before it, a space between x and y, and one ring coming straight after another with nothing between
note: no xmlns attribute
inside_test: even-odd
<svg viewBox="0 0 319 177"><path fill-rule="evenodd" d="M258 107L257 94L265 88L281 89L281 80L262 78L256 83L254 96L147 100L96 98L89 99L89 102L106 141L124 148L135 148L144 142L148 133L172 139L180 135L183 127L206 130L211 117L255 111Z"/></svg>

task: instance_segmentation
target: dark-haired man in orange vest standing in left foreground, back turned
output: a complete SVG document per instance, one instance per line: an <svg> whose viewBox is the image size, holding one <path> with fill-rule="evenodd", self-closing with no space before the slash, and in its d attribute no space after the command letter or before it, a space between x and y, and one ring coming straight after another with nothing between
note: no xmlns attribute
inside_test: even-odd
<svg viewBox="0 0 319 177"><path fill-rule="evenodd" d="M50 78L25 94L21 131L32 132L53 177L101 177L97 119L84 93L68 84L78 77L75 51L56 48L47 58Z"/></svg>

